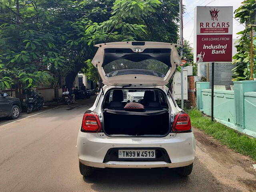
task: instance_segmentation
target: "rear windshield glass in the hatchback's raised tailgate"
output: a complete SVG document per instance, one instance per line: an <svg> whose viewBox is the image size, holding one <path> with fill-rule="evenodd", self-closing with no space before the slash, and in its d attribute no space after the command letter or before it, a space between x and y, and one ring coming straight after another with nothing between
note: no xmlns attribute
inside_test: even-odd
<svg viewBox="0 0 256 192"><path fill-rule="evenodd" d="M169 66L154 59L147 59L140 62L118 59L104 66L104 71L107 77L124 74L146 74L164 77L168 70Z"/></svg>

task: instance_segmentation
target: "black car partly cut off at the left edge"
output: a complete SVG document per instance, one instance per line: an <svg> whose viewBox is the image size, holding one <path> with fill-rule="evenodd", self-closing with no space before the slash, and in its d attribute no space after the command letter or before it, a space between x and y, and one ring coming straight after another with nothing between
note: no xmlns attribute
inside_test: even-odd
<svg viewBox="0 0 256 192"><path fill-rule="evenodd" d="M16 119L20 116L21 103L18 98L9 97L6 93L0 93L0 118L10 117Z"/></svg>

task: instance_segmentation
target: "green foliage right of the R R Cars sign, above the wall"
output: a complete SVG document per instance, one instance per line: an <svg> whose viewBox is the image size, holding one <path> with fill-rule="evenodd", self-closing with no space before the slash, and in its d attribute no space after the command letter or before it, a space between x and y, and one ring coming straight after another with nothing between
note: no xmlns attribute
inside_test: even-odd
<svg viewBox="0 0 256 192"><path fill-rule="evenodd" d="M238 32L240 39L236 45L237 54L233 56L232 64L236 67L233 68L234 75L232 81L249 80L250 79L250 29L255 30L255 26L250 26L250 15L256 10L255 0L245 0L242 2L237 10L235 10L235 18L238 18L242 24L247 24L246 29ZM256 38L254 37L254 42ZM256 46L254 45L253 54L256 53ZM254 59L254 72L256 73L256 64Z"/></svg>

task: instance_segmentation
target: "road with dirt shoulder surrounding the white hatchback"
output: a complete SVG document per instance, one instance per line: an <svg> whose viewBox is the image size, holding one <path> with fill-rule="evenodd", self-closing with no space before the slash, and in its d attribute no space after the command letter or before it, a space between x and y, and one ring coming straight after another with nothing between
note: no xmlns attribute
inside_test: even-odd
<svg viewBox="0 0 256 192"><path fill-rule="evenodd" d="M0 120L0 192L256 191L255 162L197 129L196 160L187 178L161 168L100 169L83 178L76 138L94 99L23 115L17 121Z"/></svg>

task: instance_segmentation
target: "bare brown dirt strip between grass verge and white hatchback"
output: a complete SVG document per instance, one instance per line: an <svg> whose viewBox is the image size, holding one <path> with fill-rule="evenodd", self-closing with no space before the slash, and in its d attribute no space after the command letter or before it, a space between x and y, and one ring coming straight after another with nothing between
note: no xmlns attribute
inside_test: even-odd
<svg viewBox="0 0 256 192"><path fill-rule="evenodd" d="M193 128L193 131L198 147L196 156L220 182L242 191L256 190L253 160L232 151L197 128Z"/></svg>

